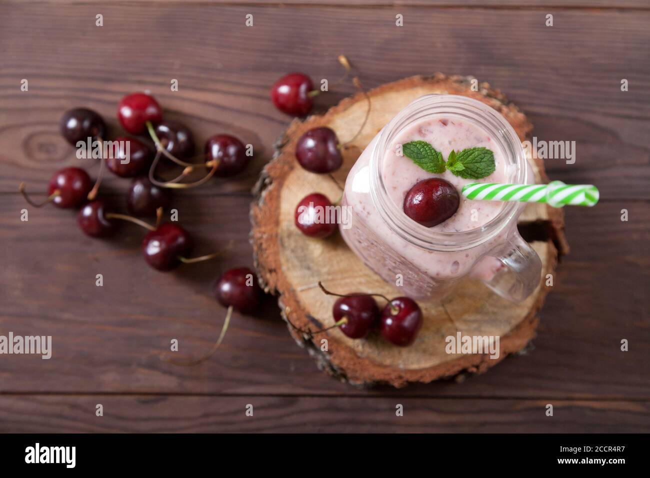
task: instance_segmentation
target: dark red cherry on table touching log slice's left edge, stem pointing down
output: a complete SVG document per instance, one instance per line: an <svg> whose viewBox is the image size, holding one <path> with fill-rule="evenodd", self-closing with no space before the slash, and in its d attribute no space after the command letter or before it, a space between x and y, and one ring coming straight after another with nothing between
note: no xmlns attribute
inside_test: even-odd
<svg viewBox="0 0 650 478"><path fill-rule="evenodd" d="M241 313L257 308L261 289L255 272L248 267L235 267L224 272L214 284L214 297L224 307L233 306Z"/></svg>

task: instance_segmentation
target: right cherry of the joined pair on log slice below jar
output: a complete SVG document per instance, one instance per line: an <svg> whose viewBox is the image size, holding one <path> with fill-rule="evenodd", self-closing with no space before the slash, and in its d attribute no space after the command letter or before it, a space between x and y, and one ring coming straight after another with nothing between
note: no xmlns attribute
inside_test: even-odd
<svg viewBox="0 0 650 478"><path fill-rule="evenodd" d="M421 326L422 310L413 299L396 297L383 308L380 330L390 343L400 347L410 345Z"/></svg>

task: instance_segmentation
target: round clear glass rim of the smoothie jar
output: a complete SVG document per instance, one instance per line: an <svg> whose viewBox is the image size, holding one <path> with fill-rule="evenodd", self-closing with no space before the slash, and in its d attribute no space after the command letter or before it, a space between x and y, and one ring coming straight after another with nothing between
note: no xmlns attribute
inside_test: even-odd
<svg viewBox="0 0 650 478"><path fill-rule="evenodd" d="M464 250L489 241L499 234L525 205L506 202L499 213L482 226L462 232L434 231L410 219L387 193L381 174L383 155L395 135L418 114L461 116L484 128L499 143L506 159L517 166L513 180L526 184L528 168L521 141L506 119L482 101L454 94L428 94L411 101L379 133L370 155L370 196L383 222L405 241L428 250ZM419 120L422 116L418 116ZM410 122L414 121L413 119Z"/></svg>

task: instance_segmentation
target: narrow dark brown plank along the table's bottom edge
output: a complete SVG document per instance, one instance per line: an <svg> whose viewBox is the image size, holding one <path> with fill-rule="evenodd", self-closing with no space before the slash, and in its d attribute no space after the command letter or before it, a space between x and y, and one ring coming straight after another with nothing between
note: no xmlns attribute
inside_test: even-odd
<svg viewBox="0 0 650 478"><path fill-rule="evenodd" d="M649 412L647 401L3 395L0 432L648 432Z"/></svg>

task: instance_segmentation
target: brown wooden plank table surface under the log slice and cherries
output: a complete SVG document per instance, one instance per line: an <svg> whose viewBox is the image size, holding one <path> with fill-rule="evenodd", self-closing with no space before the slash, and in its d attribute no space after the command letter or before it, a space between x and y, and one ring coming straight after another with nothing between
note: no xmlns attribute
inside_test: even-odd
<svg viewBox="0 0 650 478"><path fill-rule="evenodd" d="M0 335L53 337L50 360L0 356L0 431L650 431L648 25L646 0L0 3ZM534 347L465 380L358 390L317 370L269 298L257 317L233 316L211 360L161 362L171 338L188 354L209 349L224 316L214 279L252 265L250 189L289 123L269 86L295 70L331 84L341 53L369 88L475 75L528 114L539 140L577 142L575 164L549 159L547 171L597 185L601 202L566 209L571 253ZM197 250L233 239L227 258L161 274L140 256L137 226L98 241L71 211L29 207L20 220L20 181L37 192L63 166L97 172L60 138L60 115L84 105L116 129L120 98L145 89L199 144L226 132L255 148L237 179L175 196ZM352 92L332 88L317 110ZM109 177L102 191L123 207L128 182Z"/></svg>

